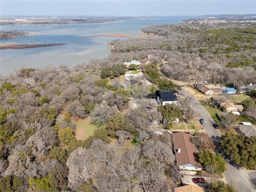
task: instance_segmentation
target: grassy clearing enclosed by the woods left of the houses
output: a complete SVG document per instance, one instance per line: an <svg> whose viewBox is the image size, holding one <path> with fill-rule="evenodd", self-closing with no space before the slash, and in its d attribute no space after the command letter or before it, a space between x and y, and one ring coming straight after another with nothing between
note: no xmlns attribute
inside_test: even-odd
<svg viewBox="0 0 256 192"><path fill-rule="evenodd" d="M85 140L89 136L92 136L97 127L93 124L90 124L91 119L90 116L84 119L78 119L73 121L76 125L76 140Z"/></svg>

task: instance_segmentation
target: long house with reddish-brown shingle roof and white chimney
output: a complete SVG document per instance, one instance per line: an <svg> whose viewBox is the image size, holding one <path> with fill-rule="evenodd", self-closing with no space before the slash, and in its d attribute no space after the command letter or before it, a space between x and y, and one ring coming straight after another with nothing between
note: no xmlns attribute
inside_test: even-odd
<svg viewBox="0 0 256 192"><path fill-rule="evenodd" d="M176 162L182 170L202 170L202 165L196 159L197 149L190 134L184 132L173 133Z"/></svg>

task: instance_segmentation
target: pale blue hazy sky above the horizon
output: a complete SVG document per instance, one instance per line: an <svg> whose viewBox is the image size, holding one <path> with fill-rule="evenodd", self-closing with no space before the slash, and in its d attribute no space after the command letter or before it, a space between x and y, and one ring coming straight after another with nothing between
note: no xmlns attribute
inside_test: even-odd
<svg viewBox="0 0 256 192"><path fill-rule="evenodd" d="M256 14L256 0L0 0L0 16Z"/></svg>

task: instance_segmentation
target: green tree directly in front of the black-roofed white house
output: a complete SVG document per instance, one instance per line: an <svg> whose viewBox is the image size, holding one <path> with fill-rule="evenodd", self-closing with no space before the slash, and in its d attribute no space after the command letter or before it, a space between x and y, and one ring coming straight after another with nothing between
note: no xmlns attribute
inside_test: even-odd
<svg viewBox="0 0 256 192"><path fill-rule="evenodd" d="M159 112L163 114L164 120L168 121L169 123L172 123L176 120L176 118L181 118L182 113L180 111L180 108L176 104L165 104L161 105L157 109Z"/></svg>

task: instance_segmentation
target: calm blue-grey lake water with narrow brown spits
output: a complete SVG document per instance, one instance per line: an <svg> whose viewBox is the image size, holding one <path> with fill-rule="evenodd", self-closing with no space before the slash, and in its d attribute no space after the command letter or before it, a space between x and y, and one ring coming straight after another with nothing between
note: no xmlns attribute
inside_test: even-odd
<svg viewBox="0 0 256 192"><path fill-rule="evenodd" d="M134 36L139 35L140 30L146 26L177 24L188 18L195 17L158 17L152 20L124 20L105 24L1 26L1 31L21 30L39 35L1 39L0 44L67 44L19 50L2 49L0 50L0 74L5 76L21 68L45 68L48 65L73 67L91 59L104 58L110 54L111 50L106 43L118 39L118 37L86 38L87 36L108 33L124 33Z"/></svg>

